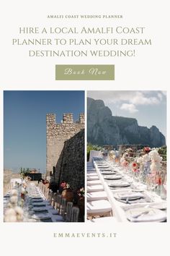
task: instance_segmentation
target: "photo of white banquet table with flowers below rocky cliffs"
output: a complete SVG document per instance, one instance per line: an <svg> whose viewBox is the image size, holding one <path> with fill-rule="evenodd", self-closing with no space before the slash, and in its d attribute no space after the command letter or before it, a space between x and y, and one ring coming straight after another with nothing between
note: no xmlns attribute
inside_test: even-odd
<svg viewBox="0 0 170 256"><path fill-rule="evenodd" d="M88 91L86 149L86 222L166 223L166 91Z"/></svg>

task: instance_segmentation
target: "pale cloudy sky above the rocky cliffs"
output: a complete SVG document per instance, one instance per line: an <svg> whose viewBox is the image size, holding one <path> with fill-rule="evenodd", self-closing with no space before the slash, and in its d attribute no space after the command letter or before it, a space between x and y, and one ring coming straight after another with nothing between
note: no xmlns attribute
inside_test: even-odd
<svg viewBox="0 0 170 256"><path fill-rule="evenodd" d="M166 92L161 90L98 90L88 97L103 100L113 116L133 117L140 126L158 127L166 137Z"/></svg>

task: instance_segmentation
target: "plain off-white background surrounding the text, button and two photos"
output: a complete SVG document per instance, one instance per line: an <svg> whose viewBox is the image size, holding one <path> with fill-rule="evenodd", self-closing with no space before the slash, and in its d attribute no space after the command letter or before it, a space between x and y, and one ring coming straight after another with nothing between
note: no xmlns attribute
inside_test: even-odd
<svg viewBox="0 0 170 256"><path fill-rule="evenodd" d="M4 1L1 8L1 142L3 90L167 90L169 109L169 1ZM122 20L48 20L47 14L123 14ZM84 23L86 22L86 23ZM146 27L153 46L138 47L135 58L29 58L12 46L19 26L129 25ZM147 36L148 35L148 36ZM55 64L115 64L115 81L55 81ZM168 114L169 116L169 114ZM169 119L168 119L169 121ZM168 124L169 125L169 124ZM169 127L168 127L169 128ZM169 129L167 129L169 130ZM167 135L167 145L169 134ZM0 144L3 170L3 143ZM169 172L169 170L168 170ZM169 180L168 180L169 182ZM3 171L1 171L3 195ZM168 255L168 223L3 223L5 255ZM53 238L54 232L116 232L117 238Z"/></svg>

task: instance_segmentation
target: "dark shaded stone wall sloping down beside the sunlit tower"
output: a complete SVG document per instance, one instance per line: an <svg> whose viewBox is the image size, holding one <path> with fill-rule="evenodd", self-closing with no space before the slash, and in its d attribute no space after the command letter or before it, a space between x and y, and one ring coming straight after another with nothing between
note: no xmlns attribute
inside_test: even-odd
<svg viewBox="0 0 170 256"><path fill-rule="evenodd" d="M84 129L64 143L55 167L55 182L63 181L72 189L84 187Z"/></svg>

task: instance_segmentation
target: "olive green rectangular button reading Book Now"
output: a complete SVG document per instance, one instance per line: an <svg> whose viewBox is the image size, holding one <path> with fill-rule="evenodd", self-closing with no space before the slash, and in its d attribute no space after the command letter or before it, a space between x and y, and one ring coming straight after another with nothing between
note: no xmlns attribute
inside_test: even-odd
<svg viewBox="0 0 170 256"><path fill-rule="evenodd" d="M55 80L115 80L115 65L55 65Z"/></svg>

